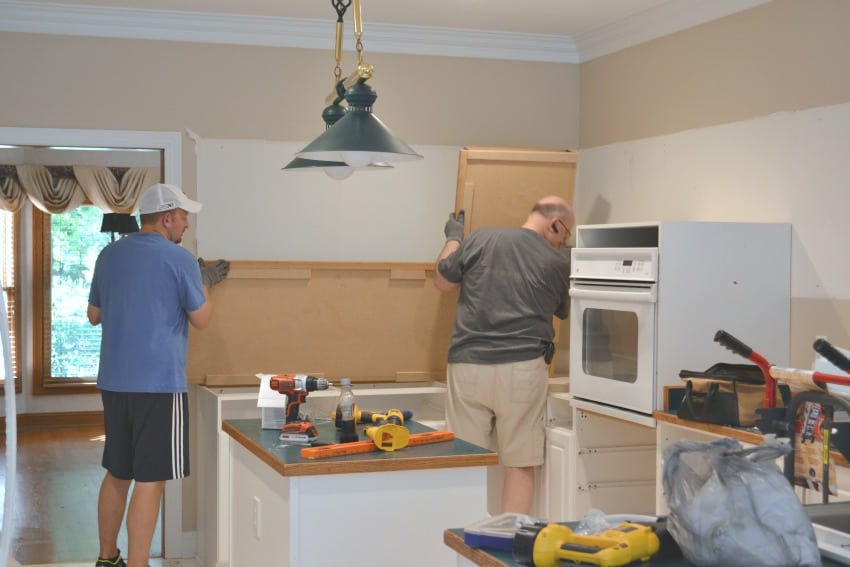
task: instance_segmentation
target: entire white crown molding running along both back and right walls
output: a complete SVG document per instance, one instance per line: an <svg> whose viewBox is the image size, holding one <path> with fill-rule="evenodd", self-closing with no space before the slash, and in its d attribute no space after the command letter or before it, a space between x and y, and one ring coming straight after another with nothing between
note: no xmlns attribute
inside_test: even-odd
<svg viewBox="0 0 850 567"><path fill-rule="evenodd" d="M671 0L576 38L369 24L375 53L581 63L770 0ZM0 0L0 31L333 50L333 20ZM349 38L354 49L353 35Z"/></svg>

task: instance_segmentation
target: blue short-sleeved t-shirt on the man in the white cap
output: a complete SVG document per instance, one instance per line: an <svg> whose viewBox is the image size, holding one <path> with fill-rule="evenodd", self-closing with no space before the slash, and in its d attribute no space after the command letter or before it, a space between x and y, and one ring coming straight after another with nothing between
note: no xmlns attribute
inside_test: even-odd
<svg viewBox="0 0 850 567"><path fill-rule="evenodd" d="M97 258L89 303L101 310L97 386L113 392L185 392L188 313L206 301L192 254L136 232Z"/></svg>

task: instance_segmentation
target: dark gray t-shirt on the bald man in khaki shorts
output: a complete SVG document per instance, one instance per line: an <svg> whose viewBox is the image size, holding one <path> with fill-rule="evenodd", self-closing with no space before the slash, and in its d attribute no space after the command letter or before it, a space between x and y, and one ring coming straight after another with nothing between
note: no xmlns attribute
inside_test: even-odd
<svg viewBox="0 0 850 567"><path fill-rule="evenodd" d="M533 230L481 228L438 269L460 283L449 362L500 364L542 356L566 318L569 257Z"/></svg>

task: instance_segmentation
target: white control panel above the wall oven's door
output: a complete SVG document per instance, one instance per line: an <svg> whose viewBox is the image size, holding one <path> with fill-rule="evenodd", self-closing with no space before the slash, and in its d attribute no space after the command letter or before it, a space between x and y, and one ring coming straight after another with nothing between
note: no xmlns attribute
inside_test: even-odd
<svg viewBox="0 0 850 567"><path fill-rule="evenodd" d="M657 248L573 248L573 279L655 282Z"/></svg>

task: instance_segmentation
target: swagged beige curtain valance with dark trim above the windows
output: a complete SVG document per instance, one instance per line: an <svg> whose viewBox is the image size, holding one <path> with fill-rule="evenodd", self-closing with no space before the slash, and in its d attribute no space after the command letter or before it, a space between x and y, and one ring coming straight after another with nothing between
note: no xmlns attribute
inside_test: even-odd
<svg viewBox="0 0 850 567"><path fill-rule="evenodd" d="M14 212L29 200L45 213L59 214L88 199L105 213L131 214L142 190L159 176L158 167L0 166L0 209Z"/></svg>

